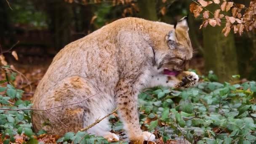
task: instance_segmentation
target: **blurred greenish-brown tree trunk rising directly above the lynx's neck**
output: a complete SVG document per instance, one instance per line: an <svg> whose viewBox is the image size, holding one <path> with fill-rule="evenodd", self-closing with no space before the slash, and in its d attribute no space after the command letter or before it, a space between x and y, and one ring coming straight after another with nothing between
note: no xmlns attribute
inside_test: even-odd
<svg viewBox="0 0 256 144"><path fill-rule="evenodd" d="M156 0L138 0L139 17L157 21Z"/></svg>

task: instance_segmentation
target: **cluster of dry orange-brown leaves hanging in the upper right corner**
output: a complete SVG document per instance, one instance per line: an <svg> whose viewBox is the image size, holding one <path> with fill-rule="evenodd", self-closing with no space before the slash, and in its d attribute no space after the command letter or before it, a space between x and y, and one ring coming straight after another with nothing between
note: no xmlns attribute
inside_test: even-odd
<svg viewBox="0 0 256 144"><path fill-rule="evenodd" d="M226 0L222 1L223 2L221 3L221 0L197 0L197 2L192 2L189 5L189 11L194 14L195 18L199 17L203 9L205 9L202 13L204 20L199 29L207 27L208 24L212 27L216 27L217 25L221 26L221 20L226 21L225 27L222 29L222 33L224 33L226 37L229 35L231 29L234 30L234 33L239 33L239 35L243 34L244 29L246 31L256 29L256 0L251 0L246 11L242 11L245 8L245 5L243 4L227 2ZM214 14L205 8L211 3L220 4L220 9L215 10ZM221 13L221 11L230 10L232 16L225 16Z"/></svg>

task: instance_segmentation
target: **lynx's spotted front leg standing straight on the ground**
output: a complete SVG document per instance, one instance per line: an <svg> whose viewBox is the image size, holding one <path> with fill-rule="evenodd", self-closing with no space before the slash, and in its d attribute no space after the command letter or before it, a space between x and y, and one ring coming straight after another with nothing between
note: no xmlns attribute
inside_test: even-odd
<svg viewBox="0 0 256 144"><path fill-rule="evenodd" d="M137 144L142 144L144 140L154 140L155 135L141 131L137 112L137 94L138 90L125 83L124 79L119 81L116 89L118 113L129 139Z"/></svg>

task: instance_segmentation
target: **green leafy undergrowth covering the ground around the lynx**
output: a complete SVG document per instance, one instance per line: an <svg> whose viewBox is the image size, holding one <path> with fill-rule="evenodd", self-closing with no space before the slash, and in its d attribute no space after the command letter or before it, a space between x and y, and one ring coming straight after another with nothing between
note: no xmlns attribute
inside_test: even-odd
<svg viewBox="0 0 256 144"><path fill-rule="evenodd" d="M8 66L2 67L2 70ZM16 73L5 69L8 76L0 81L0 108L24 109L32 106L22 101L23 91L16 89ZM233 76L237 77L237 76ZM139 95L140 124L144 131L157 139L186 139L197 144L256 144L256 82L243 84L218 83L212 72L201 77L195 88L174 90L152 88ZM4 144L15 142L17 135L25 136L25 143L37 144L31 124L30 110L0 110L0 133ZM110 116L112 131L123 133L123 125ZM59 143L108 144L101 136L86 132L69 132ZM128 144L122 140L112 144Z"/></svg>

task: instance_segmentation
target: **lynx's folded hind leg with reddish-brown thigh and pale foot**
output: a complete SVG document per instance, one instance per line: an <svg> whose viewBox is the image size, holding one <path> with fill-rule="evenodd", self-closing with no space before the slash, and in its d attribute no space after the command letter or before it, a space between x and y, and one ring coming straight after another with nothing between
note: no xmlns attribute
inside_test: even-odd
<svg viewBox="0 0 256 144"><path fill-rule="evenodd" d="M37 108L47 109L76 103L98 92L99 90L94 88L88 80L78 76L68 77L61 80L51 91L45 93ZM99 93L78 104L49 110L54 117L47 112L37 112L32 116L32 119L35 125L37 125L37 130L43 128L48 133L58 135L64 135L69 131L77 132L81 128L85 128L94 123L99 117L104 117L111 111L112 104L102 104L102 101L109 102L110 100L104 93ZM109 111L107 111L107 109L109 109ZM68 128L55 117L59 118ZM36 121L40 121L40 126L38 126L38 122ZM107 119L103 120L101 123L98 123L95 128L93 127L88 131L91 134L108 138L111 136L111 133L108 132L109 125L107 125L107 122ZM43 126L44 123L48 123L48 125ZM112 135L112 137L116 138L115 136Z"/></svg>

